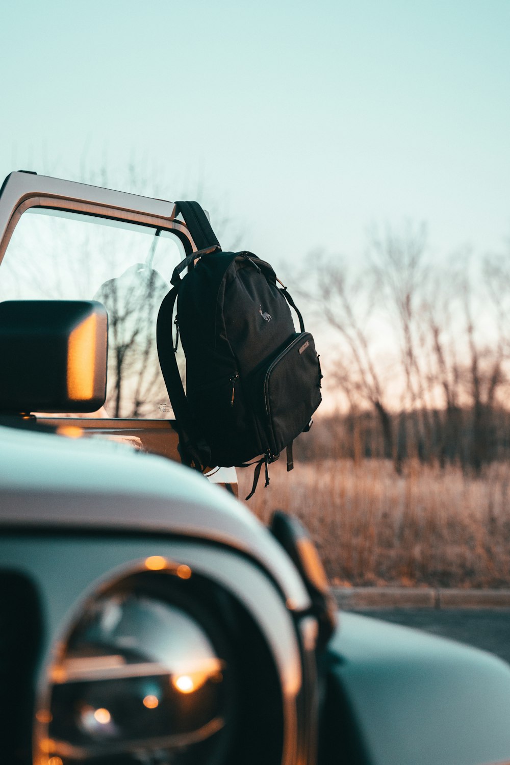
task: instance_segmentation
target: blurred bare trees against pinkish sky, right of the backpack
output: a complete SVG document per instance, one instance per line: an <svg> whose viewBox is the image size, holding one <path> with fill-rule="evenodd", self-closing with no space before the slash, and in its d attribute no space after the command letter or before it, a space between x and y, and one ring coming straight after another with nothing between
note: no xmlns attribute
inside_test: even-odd
<svg viewBox="0 0 510 765"><path fill-rule="evenodd" d="M346 456L483 464L508 456L509 253L440 262L425 226L372 232L361 262L314 256L307 298L341 402L317 441ZM303 440L303 439L301 439ZM322 442L322 445L320 443ZM310 447L303 447L310 451Z"/></svg>

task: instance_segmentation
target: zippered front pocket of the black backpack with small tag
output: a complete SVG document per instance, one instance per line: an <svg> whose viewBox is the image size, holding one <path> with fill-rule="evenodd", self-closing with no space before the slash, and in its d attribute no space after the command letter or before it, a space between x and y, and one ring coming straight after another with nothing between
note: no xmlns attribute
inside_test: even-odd
<svg viewBox="0 0 510 765"><path fill-rule="evenodd" d="M306 428L321 401L320 366L309 332L293 336L263 378L269 447L278 454Z"/></svg>

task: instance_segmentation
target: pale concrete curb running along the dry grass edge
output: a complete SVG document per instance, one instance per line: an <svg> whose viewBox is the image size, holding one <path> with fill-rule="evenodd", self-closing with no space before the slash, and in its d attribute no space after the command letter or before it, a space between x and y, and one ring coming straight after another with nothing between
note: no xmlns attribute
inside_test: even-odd
<svg viewBox="0 0 510 765"><path fill-rule="evenodd" d="M413 587L333 587L345 610L383 608L508 608L510 590L455 590Z"/></svg>

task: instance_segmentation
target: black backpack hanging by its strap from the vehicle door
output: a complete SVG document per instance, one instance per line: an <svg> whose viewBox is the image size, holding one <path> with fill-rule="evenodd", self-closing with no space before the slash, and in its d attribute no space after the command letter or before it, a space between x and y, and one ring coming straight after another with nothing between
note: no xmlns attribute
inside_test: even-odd
<svg viewBox="0 0 510 765"><path fill-rule="evenodd" d="M268 464L284 448L287 470L294 467L292 442L310 429L321 401L319 356L271 265L252 252L222 252L200 204L176 206L198 247L174 270L174 288L161 304L157 325L180 456L199 470L246 467L259 457L251 463L256 467L250 497L262 464L267 486ZM299 317L300 332L289 305ZM175 358L179 337L186 356L186 393Z"/></svg>

